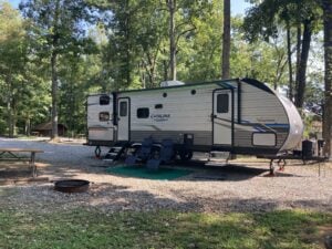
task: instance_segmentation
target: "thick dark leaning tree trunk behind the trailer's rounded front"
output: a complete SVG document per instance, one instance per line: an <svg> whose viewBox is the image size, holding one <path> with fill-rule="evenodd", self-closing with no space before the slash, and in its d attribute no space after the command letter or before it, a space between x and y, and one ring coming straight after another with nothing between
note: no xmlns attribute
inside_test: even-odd
<svg viewBox="0 0 332 249"><path fill-rule="evenodd" d="M299 64L300 66L299 77L298 77L299 82L298 82L297 100L295 100L295 106L298 108L302 108L304 102L307 64L308 64L309 50L311 43L311 34L312 34L311 20L305 20L303 22L303 39L302 39L302 48L301 48L301 60Z"/></svg>

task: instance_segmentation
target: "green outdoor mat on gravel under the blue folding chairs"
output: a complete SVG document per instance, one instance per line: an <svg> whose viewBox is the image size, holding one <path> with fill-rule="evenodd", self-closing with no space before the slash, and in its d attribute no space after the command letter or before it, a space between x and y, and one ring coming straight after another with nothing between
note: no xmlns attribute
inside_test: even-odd
<svg viewBox="0 0 332 249"><path fill-rule="evenodd" d="M128 177L137 177L137 178L145 178L145 179L162 179L162 180L172 180L193 173L193 170L179 169L179 168L158 168L156 170L152 170L152 169L147 169L145 166L125 166L125 165L107 168L106 172L111 174L128 176Z"/></svg>

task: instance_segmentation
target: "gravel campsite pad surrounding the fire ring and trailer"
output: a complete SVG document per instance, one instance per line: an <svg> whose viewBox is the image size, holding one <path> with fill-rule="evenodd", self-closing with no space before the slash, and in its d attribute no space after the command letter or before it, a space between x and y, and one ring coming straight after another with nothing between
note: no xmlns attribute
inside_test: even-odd
<svg viewBox="0 0 332 249"><path fill-rule="evenodd" d="M187 176L153 180L108 174L106 166L110 163L94 158L94 147L82 143L0 138L0 147L44 151L37 156L38 177L49 178L48 181L2 185L0 206L40 212L77 207L101 211L165 208L216 212L292 208L332 211L331 163L319 167L318 164L303 166L295 162L277 177L266 177L267 160L248 163L239 159L231 162L235 166L218 166L215 162L208 167L196 162L189 167L193 173ZM0 179L3 180L7 163L0 164ZM90 180L90 189L80 194L53 189L54 180L72 178Z"/></svg>

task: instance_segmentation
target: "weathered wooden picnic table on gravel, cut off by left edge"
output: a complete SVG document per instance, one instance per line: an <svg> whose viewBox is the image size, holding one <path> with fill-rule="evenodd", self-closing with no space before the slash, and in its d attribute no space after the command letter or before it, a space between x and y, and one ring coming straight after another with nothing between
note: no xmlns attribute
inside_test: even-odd
<svg viewBox="0 0 332 249"><path fill-rule="evenodd" d="M24 157L24 155L20 154L30 154L30 157ZM12 160L27 160L29 162L29 166L32 169L32 177L37 177L37 166L35 166L35 154L43 153L41 149L37 148L1 148L0 147L0 159L12 159Z"/></svg>

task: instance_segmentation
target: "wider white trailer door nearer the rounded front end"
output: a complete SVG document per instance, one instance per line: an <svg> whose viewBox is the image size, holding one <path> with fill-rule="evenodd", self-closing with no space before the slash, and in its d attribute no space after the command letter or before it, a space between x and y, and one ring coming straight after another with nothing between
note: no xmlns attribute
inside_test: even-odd
<svg viewBox="0 0 332 249"><path fill-rule="evenodd" d="M235 101L231 90L214 92L214 145L232 145Z"/></svg>

